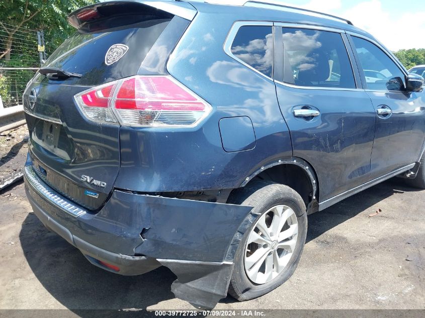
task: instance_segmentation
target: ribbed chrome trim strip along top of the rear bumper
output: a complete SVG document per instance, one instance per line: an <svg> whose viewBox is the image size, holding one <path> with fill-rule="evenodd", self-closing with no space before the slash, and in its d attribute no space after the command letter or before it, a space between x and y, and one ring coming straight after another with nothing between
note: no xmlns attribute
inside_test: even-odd
<svg viewBox="0 0 425 318"><path fill-rule="evenodd" d="M55 191L50 188L47 184L40 180L40 177L34 171L32 166L26 166L24 169L24 175L28 180L28 184L42 197L44 197L51 204L57 206L67 214L77 218L87 211L79 206L74 205L65 197L56 194Z"/></svg>

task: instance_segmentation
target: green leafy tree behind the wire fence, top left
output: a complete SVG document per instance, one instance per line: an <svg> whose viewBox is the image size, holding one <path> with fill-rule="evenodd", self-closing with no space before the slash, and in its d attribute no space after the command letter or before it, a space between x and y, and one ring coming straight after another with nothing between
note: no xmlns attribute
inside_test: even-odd
<svg viewBox="0 0 425 318"><path fill-rule="evenodd" d="M23 27L33 30L45 30L46 38L56 48L74 29L68 25L66 16L72 11L98 2L97 0L8 0L0 2L0 28L6 31L4 52L11 60L11 48L15 33ZM5 24L13 25L13 28Z"/></svg>

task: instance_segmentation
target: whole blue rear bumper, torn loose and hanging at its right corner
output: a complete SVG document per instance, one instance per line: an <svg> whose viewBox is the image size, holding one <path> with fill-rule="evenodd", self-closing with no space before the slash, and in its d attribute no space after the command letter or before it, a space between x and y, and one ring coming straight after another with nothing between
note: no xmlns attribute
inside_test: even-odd
<svg viewBox="0 0 425 318"><path fill-rule="evenodd" d="M138 275L161 265L177 276L176 297L213 308L227 294L233 258L256 216L251 206L114 190L98 213L55 192L30 161L24 179L34 213L94 265Z"/></svg>

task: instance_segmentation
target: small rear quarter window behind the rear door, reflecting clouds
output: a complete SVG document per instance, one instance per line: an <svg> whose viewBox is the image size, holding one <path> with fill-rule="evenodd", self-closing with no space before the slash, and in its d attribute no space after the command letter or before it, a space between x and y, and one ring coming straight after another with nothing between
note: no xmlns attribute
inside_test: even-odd
<svg viewBox="0 0 425 318"><path fill-rule="evenodd" d="M271 26L240 27L230 51L244 64L272 77L273 32Z"/></svg>

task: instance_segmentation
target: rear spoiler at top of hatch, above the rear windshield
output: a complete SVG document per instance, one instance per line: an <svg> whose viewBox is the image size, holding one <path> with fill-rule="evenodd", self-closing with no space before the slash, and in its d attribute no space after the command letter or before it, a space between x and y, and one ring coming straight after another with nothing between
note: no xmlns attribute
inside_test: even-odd
<svg viewBox="0 0 425 318"><path fill-rule="evenodd" d="M68 16L68 23L76 29L84 25L109 18L112 16L137 15L146 13L154 15L168 14L170 16L179 16L183 19L192 21L197 10L187 2L176 1L111 1L95 5L86 6L72 12Z"/></svg>

